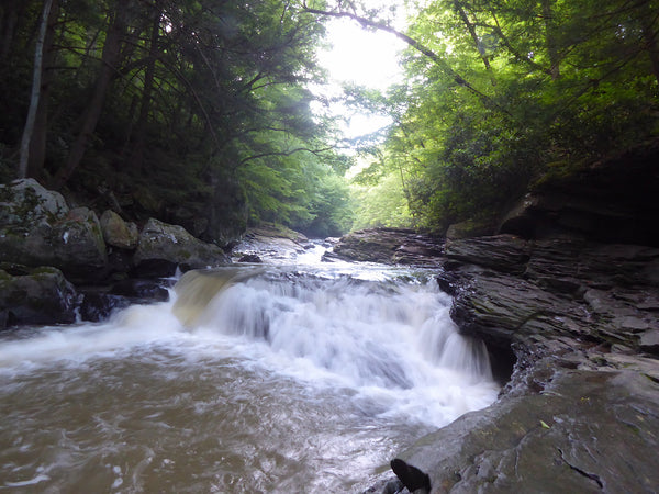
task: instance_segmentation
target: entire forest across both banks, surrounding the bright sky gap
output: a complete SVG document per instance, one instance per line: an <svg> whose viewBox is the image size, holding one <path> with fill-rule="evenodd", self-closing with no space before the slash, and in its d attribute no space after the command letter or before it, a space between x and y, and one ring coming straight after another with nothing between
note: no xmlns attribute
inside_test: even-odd
<svg viewBox="0 0 659 494"><path fill-rule="evenodd" d="M344 88L393 122L358 143L312 111L333 18L407 46L403 83ZM220 245L261 222L492 222L544 176L657 136L658 33L656 0L4 0L0 181Z"/></svg>

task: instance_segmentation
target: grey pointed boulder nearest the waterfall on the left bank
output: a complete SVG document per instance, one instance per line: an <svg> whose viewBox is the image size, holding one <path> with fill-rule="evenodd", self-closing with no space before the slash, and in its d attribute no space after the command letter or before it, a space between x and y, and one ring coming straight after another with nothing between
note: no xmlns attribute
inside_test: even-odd
<svg viewBox="0 0 659 494"><path fill-rule="evenodd" d="M187 271L231 262L216 245L201 242L182 226L155 218L142 229L133 260L135 272L143 277L169 277L177 267Z"/></svg>

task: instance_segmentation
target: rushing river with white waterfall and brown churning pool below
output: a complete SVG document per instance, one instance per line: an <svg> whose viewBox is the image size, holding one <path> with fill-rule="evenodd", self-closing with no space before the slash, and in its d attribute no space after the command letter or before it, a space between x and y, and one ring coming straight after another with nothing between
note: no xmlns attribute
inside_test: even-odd
<svg viewBox="0 0 659 494"><path fill-rule="evenodd" d="M495 400L431 272L316 254L2 335L0 492L360 492Z"/></svg>

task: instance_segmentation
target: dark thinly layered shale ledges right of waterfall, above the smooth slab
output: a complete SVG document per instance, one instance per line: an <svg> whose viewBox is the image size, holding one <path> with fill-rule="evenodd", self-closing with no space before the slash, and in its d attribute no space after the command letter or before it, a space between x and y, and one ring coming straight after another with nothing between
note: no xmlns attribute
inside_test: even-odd
<svg viewBox="0 0 659 494"><path fill-rule="evenodd" d="M512 236L467 244L447 245L454 265L440 276L462 288L451 315L465 333L499 346L541 336L640 350L641 335L659 327L657 248Z"/></svg>

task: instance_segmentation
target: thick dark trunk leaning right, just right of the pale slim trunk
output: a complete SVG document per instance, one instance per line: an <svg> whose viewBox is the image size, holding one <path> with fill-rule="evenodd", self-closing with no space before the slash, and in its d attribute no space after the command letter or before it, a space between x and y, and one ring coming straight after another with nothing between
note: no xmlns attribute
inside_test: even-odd
<svg viewBox="0 0 659 494"><path fill-rule="evenodd" d="M126 27L126 10L127 0L118 0L114 20L110 22L108 35L105 37L105 44L103 45L100 74L97 78L91 100L89 101L87 110L82 115L80 131L78 132L78 136L71 146L66 164L55 175L55 179L53 181L53 187L55 189L62 188L62 186L64 186L70 178L78 165L80 165L80 161L82 161L89 138L93 134L97 123L101 116L101 111L103 110L103 103L105 102L105 96L108 93L108 88L110 87L110 81L112 80L112 77L116 70L116 65L121 58L121 44Z"/></svg>

